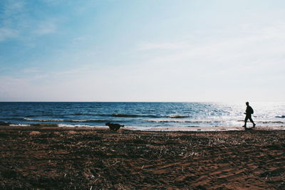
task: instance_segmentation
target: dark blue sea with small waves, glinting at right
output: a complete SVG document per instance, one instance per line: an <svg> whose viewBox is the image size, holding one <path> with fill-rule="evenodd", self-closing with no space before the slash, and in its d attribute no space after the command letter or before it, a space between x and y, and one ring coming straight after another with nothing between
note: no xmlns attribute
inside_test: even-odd
<svg viewBox="0 0 285 190"><path fill-rule="evenodd" d="M285 102L250 105L257 126L285 128ZM113 122L132 130L239 127L244 125L245 110L244 102L0 102L0 125L104 127Z"/></svg>

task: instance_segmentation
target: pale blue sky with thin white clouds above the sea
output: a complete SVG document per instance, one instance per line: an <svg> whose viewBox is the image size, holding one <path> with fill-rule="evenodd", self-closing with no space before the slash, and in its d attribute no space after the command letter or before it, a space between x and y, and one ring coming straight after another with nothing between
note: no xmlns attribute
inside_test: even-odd
<svg viewBox="0 0 285 190"><path fill-rule="evenodd" d="M283 0L1 0L0 101L285 101Z"/></svg>

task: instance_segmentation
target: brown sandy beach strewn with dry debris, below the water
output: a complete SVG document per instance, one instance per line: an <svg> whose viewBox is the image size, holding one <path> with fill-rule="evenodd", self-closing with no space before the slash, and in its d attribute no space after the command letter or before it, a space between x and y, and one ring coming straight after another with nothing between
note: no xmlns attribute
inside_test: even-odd
<svg viewBox="0 0 285 190"><path fill-rule="evenodd" d="M285 189L285 131L0 127L0 189Z"/></svg>

